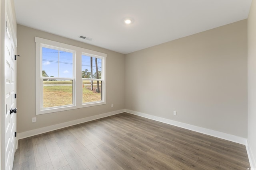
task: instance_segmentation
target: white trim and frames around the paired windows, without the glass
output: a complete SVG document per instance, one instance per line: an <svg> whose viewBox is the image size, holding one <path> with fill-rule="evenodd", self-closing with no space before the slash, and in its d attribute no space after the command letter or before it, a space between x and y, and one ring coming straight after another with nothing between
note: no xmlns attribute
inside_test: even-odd
<svg viewBox="0 0 256 170"><path fill-rule="evenodd" d="M100 53L97 51L92 51L89 49L84 49L81 47L76 47L73 45L68 45L64 43L59 43L56 41L51 41L48 39L43 39L39 37L35 37L36 42L36 115L44 114L44 113L52 113L57 111L65 111L70 109L78 109L82 107L90 107L90 106L98 106L102 104L106 104L106 57L107 55L104 53ZM70 106L60 106L60 107L50 107L42 109L42 92L41 92L41 73L42 73L42 45L59 47L62 49L69 49L71 51L75 51L74 56L74 102L73 105ZM82 55L91 55L93 57L98 57L102 59L102 101L96 102L88 102L82 103ZM72 78L70 78L72 79Z"/></svg>

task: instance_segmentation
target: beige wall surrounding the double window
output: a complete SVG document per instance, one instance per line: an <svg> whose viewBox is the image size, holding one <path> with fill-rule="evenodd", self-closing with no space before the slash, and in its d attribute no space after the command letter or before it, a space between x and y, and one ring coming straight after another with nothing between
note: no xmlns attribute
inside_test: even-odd
<svg viewBox="0 0 256 170"><path fill-rule="evenodd" d="M18 25L17 54L17 133L58 123L124 109L124 55L22 25ZM107 54L106 105L36 115L35 37L41 37ZM111 108L111 104L114 107ZM36 123L32 123L36 117Z"/></svg>

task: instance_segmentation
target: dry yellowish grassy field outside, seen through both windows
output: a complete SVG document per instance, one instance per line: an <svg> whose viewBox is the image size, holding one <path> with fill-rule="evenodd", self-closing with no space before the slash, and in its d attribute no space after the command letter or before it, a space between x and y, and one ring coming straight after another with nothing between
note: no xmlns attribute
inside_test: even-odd
<svg viewBox="0 0 256 170"><path fill-rule="evenodd" d="M46 86L43 87L43 107L64 106L73 103L72 93L72 80L70 81L44 81ZM70 84L71 86L67 86ZM88 80L83 81L83 84L90 84ZM52 86L51 86L52 85ZM62 86L63 85L63 86ZM100 84L101 88L101 84ZM93 90L91 86L85 85L83 87L82 102L95 102L101 100L100 93L96 91L97 81L93 82Z"/></svg>

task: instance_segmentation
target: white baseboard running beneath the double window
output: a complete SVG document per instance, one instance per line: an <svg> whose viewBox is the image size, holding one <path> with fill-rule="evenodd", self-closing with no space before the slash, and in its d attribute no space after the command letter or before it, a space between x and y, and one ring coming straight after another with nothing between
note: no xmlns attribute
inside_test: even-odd
<svg viewBox="0 0 256 170"><path fill-rule="evenodd" d="M64 123L60 123L60 124L56 124L56 125L42 127L42 128L34 129L34 130L31 130L31 131L17 133L17 139L23 139L23 138L31 137L31 136L34 136L34 135L39 135L39 134L46 133L46 132L49 132L49 131L54 131L54 130L61 129L61 128L64 128L64 127L77 125L79 123L84 123L84 122L87 122L87 121L92 121L92 120L100 119L100 118L103 118L103 117L108 117L108 116L111 116L111 115L116 115L116 114L123 113L123 112L124 112L124 109L121 109L121 110L116 110L116 111L112 111L112 112L108 112L108 113L102 113L100 115L85 117L85 118L82 118L82 119L77 119L77 120L68 121L68 122L64 122Z"/></svg>

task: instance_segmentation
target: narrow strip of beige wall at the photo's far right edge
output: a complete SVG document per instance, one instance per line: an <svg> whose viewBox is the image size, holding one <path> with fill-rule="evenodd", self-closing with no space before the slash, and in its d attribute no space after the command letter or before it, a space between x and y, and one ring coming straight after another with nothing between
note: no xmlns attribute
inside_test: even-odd
<svg viewBox="0 0 256 170"><path fill-rule="evenodd" d="M256 168L256 1L248 16L248 143Z"/></svg>

